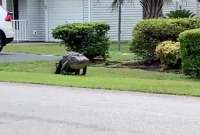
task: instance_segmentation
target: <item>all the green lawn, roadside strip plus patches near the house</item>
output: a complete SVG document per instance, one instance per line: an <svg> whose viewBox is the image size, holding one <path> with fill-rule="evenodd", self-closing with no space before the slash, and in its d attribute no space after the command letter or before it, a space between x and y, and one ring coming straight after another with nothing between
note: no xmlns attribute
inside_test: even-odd
<svg viewBox="0 0 200 135"><path fill-rule="evenodd" d="M63 55L65 47L58 43L13 44L4 51ZM120 52L111 43L109 52L109 61L137 59L129 52L129 43L122 43ZM55 75L54 71L55 62L4 63L0 64L0 81L200 96L200 80L182 74L92 66L87 76Z"/></svg>

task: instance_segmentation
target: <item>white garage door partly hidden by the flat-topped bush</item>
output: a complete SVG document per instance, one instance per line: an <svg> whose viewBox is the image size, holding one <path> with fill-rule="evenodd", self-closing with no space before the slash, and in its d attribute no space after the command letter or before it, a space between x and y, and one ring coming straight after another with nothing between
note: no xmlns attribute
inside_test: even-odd
<svg viewBox="0 0 200 135"><path fill-rule="evenodd" d="M52 29L58 25L84 22L87 20L87 0L48 0L48 34L50 41L56 41L52 37Z"/></svg>

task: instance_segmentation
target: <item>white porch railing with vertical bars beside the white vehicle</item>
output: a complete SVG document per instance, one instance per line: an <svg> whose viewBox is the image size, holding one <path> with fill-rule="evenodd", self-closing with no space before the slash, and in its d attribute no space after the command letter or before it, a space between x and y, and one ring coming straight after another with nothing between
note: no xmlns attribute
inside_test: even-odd
<svg viewBox="0 0 200 135"><path fill-rule="evenodd" d="M14 41L23 42L27 40L27 20L12 20L15 32Z"/></svg>

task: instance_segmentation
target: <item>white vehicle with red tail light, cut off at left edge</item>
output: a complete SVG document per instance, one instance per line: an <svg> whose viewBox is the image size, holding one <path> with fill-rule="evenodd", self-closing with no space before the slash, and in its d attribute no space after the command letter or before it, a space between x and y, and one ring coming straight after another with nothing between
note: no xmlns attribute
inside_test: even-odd
<svg viewBox="0 0 200 135"><path fill-rule="evenodd" d="M12 14L0 6L0 51L14 39Z"/></svg>

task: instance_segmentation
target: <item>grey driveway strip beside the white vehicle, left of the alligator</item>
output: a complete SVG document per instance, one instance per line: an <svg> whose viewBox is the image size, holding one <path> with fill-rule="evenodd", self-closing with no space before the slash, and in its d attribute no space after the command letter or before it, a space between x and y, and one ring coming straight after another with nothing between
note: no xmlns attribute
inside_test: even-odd
<svg viewBox="0 0 200 135"><path fill-rule="evenodd" d="M59 60L59 56L36 55L27 53L0 53L0 63L5 62L32 62L32 61L51 61Z"/></svg>

